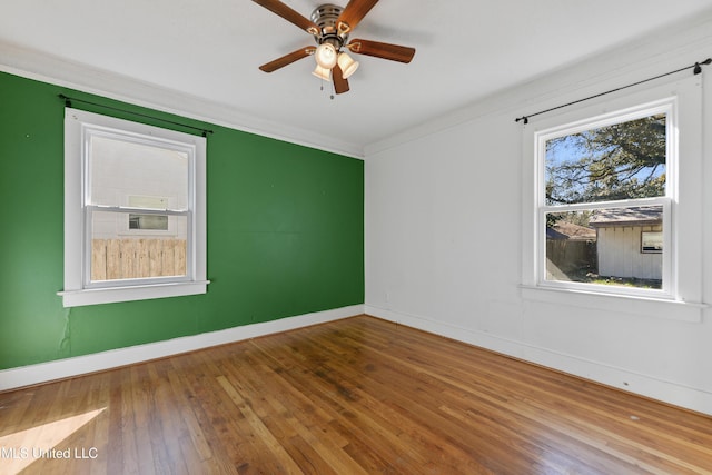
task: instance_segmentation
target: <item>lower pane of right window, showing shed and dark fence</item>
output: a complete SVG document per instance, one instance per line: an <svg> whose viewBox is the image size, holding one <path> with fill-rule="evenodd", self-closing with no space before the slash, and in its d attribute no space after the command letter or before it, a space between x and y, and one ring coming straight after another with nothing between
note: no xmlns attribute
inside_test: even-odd
<svg viewBox="0 0 712 475"><path fill-rule="evenodd" d="M662 288L662 206L546 214L546 279Z"/></svg>

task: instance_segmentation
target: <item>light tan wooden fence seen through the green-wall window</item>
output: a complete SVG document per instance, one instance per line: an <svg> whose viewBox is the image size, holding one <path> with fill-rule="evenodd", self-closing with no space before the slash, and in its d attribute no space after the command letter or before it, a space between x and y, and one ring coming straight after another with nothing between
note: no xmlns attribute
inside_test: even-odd
<svg viewBox="0 0 712 475"><path fill-rule="evenodd" d="M91 243L91 280L185 275L185 239L93 239Z"/></svg>

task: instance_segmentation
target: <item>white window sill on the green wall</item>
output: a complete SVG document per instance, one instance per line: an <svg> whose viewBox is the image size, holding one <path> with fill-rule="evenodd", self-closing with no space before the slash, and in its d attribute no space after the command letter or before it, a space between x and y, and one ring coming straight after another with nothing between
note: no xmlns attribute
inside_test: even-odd
<svg viewBox="0 0 712 475"><path fill-rule="evenodd" d="M65 307L206 294L209 280L58 291Z"/></svg>

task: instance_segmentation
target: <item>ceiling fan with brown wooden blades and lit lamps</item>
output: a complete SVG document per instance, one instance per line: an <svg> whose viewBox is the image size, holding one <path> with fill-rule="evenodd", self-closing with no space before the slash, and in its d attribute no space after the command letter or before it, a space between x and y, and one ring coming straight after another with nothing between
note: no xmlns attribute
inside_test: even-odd
<svg viewBox="0 0 712 475"><path fill-rule="evenodd" d="M415 55L415 48L362 39L348 41L348 34L378 0L350 0L345 8L325 3L312 12L312 19L303 17L279 0L253 1L313 34L317 43L316 47L300 48L260 66L259 69L265 72L276 71L301 58L314 56L316 68L313 75L326 81L333 80L334 91L338 95L348 91L348 77L358 68L358 61L354 61L347 51L405 63L411 62Z"/></svg>

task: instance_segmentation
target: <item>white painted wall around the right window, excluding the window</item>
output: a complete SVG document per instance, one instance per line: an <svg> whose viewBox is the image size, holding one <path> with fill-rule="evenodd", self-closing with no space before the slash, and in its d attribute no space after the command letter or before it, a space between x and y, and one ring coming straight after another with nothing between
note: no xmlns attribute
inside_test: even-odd
<svg viewBox="0 0 712 475"><path fill-rule="evenodd" d="M561 293L534 300L521 287L528 199L522 188L530 177L521 171L522 125L515 117L712 55L712 18L679 27L369 147L366 311L712 414L710 309L686 321L682 306L630 300L611 307ZM703 81L710 91L712 67ZM712 95L703 100L709 184ZM712 210L711 198L704 194L702 209ZM712 212L700 218L699 239L706 241ZM701 259L702 299L711 303L712 256Z"/></svg>

